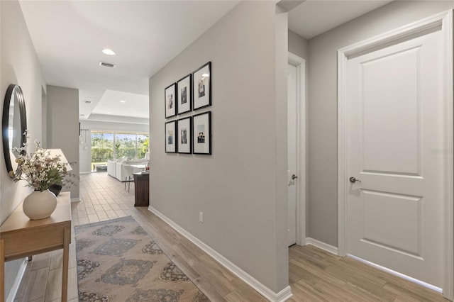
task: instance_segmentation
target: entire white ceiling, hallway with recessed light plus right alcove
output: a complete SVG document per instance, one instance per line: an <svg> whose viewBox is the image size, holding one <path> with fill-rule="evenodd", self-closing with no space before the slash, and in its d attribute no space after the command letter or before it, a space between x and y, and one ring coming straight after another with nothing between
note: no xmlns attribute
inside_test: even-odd
<svg viewBox="0 0 454 302"><path fill-rule="evenodd" d="M289 29L309 39L389 2L307 0L289 12ZM238 3L20 1L45 81L79 89L81 120L126 116L142 122L148 79ZM104 48L116 55L104 55Z"/></svg>

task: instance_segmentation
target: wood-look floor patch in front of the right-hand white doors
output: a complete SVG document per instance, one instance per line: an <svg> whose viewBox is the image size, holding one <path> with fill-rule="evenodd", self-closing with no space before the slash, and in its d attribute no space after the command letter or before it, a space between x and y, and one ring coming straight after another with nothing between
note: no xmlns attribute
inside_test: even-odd
<svg viewBox="0 0 454 302"><path fill-rule="evenodd" d="M448 302L441 293L317 247L289 248L289 301Z"/></svg>

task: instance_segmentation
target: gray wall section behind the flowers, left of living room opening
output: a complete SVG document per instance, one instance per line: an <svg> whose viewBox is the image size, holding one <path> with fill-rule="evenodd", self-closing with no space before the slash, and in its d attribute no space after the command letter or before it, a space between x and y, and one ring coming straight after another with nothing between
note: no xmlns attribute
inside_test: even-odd
<svg viewBox="0 0 454 302"><path fill-rule="evenodd" d="M79 177L79 90L48 85L47 92L48 148L61 149L68 162L75 162L71 173ZM62 191L71 191L71 199L78 199L79 181Z"/></svg>

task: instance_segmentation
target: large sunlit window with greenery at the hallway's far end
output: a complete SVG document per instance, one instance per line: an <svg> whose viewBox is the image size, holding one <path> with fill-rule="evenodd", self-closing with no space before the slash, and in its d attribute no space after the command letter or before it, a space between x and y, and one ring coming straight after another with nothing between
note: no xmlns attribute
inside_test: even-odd
<svg viewBox="0 0 454 302"><path fill-rule="evenodd" d="M138 160L148 152L148 133L127 133L92 130L92 170L120 157Z"/></svg>

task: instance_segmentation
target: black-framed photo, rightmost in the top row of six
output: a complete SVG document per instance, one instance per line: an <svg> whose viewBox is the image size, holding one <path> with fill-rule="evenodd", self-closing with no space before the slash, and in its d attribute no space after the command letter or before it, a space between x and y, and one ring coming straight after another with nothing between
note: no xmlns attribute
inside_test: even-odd
<svg viewBox="0 0 454 302"><path fill-rule="evenodd" d="M211 62L192 73L194 110L211 106Z"/></svg>

